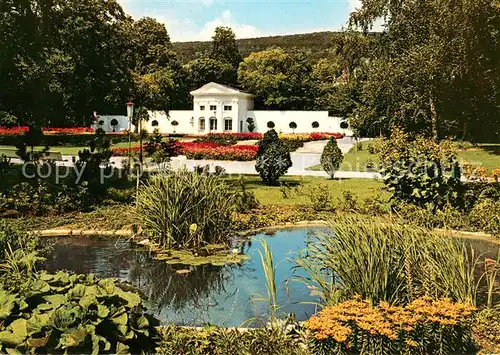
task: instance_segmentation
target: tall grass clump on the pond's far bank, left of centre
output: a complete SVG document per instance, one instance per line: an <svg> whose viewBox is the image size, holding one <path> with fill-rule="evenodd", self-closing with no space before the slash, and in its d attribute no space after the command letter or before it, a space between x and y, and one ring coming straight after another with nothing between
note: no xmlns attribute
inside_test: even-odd
<svg viewBox="0 0 500 355"><path fill-rule="evenodd" d="M218 176L166 172L141 187L133 216L164 248L198 248L229 241L233 205Z"/></svg>

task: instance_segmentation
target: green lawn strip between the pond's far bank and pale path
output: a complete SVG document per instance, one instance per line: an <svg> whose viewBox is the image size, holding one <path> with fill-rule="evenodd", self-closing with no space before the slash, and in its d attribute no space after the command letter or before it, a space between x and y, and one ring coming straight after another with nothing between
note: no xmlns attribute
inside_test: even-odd
<svg viewBox="0 0 500 355"><path fill-rule="evenodd" d="M238 185L238 180L238 178L228 178L228 182L235 186ZM311 176L285 176L280 179L280 183L287 184L292 188L291 196L286 199L283 197L282 189L279 186L266 186L258 176L245 176L244 182L247 190L252 191L263 205L298 205L310 203L307 194L309 186L314 183L325 184L334 199L342 197L345 191L349 191L354 197L360 200L379 195L381 197L388 197L387 192L382 190L384 184L381 181L373 179L327 180L326 178Z"/></svg>

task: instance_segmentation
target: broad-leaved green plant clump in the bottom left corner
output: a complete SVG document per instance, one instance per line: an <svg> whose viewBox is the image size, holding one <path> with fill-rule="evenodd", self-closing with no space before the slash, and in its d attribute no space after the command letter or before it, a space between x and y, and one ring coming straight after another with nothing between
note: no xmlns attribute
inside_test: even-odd
<svg viewBox="0 0 500 355"><path fill-rule="evenodd" d="M0 290L6 352L120 353L152 350L155 326L138 294L111 279L42 272Z"/></svg>

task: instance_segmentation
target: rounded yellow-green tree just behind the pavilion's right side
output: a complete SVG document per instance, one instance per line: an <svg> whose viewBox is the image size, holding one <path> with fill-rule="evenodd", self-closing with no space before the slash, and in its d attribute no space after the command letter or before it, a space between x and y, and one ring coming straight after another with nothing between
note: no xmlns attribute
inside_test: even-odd
<svg viewBox="0 0 500 355"><path fill-rule="evenodd" d="M314 106L311 72L312 63L305 53L273 48L245 58L238 82L256 95L258 108L306 110Z"/></svg>

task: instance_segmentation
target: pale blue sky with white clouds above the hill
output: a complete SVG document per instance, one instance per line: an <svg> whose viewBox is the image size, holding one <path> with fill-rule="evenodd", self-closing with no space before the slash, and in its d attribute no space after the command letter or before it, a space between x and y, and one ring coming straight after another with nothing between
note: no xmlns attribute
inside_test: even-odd
<svg viewBox="0 0 500 355"><path fill-rule="evenodd" d="M337 31L360 0L118 0L138 19L153 17L172 42L210 40L217 26L237 38Z"/></svg>

